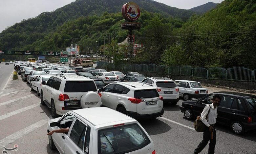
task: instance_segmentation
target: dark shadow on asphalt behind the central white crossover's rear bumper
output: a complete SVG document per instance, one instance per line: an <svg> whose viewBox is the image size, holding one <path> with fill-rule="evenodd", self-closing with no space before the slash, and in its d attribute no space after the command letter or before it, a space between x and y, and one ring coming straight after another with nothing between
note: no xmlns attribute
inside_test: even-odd
<svg viewBox="0 0 256 154"><path fill-rule="evenodd" d="M162 134L172 129L171 126L158 119L140 120L139 123L149 135Z"/></svg>

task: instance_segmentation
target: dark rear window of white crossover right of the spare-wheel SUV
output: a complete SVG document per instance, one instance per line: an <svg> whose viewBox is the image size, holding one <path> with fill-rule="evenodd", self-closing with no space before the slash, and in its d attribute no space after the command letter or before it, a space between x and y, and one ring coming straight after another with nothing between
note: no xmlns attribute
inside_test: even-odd
<svg viewBox="0 0 256 154"><path fill-rule="evenodd" d="M144 89L134 91L135 98L154 98L159 97L157 89Z"/></svg>

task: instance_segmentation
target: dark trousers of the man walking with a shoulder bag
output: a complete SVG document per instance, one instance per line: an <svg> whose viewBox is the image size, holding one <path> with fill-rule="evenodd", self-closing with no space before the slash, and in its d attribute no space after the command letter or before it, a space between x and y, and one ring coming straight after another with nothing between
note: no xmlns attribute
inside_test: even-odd
<svg viewBox="0 0 256 154"><path fill-rule="evenodd" d="M216 131L214 129L213 139L211 139L211 132L209 131L208 127L203 131L203 141L200 142L200 144L194 150L194 154L200 153L203 150L203 148L208 144L209 140L210 140L210 144L209 144L208 154L214 154L214 149L216 144Z"/></svg>

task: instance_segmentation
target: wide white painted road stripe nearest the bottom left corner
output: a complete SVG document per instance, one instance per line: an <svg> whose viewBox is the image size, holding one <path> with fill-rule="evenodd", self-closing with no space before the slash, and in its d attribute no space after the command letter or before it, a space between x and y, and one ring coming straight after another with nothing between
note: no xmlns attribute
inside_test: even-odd
<svg viewBox="0 0 256 154"><path fill-rule="evenodd" d="M23 128L7 137L5 137L4 139L0 140L0 147L3 147L5 145L8 145L10 143L13 143L15 140L31 133L32 131L34 131L35 129L45 125L47 123L49 119L43 119L43 120L40 120L26 128Z"/></svg>

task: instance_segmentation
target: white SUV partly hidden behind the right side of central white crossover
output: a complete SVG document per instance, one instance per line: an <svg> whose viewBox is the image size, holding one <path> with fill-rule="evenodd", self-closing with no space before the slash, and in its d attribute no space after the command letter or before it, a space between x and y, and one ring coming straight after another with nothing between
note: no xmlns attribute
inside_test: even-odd
<svg viewBox="0 0 256 154"><path fill-rule="evenodd" d="M172 79L166 77L147 77L142 82L156 87L159 95L163 97L163 102L171 102L173 105L179 102L179 88Z"/></svg>

